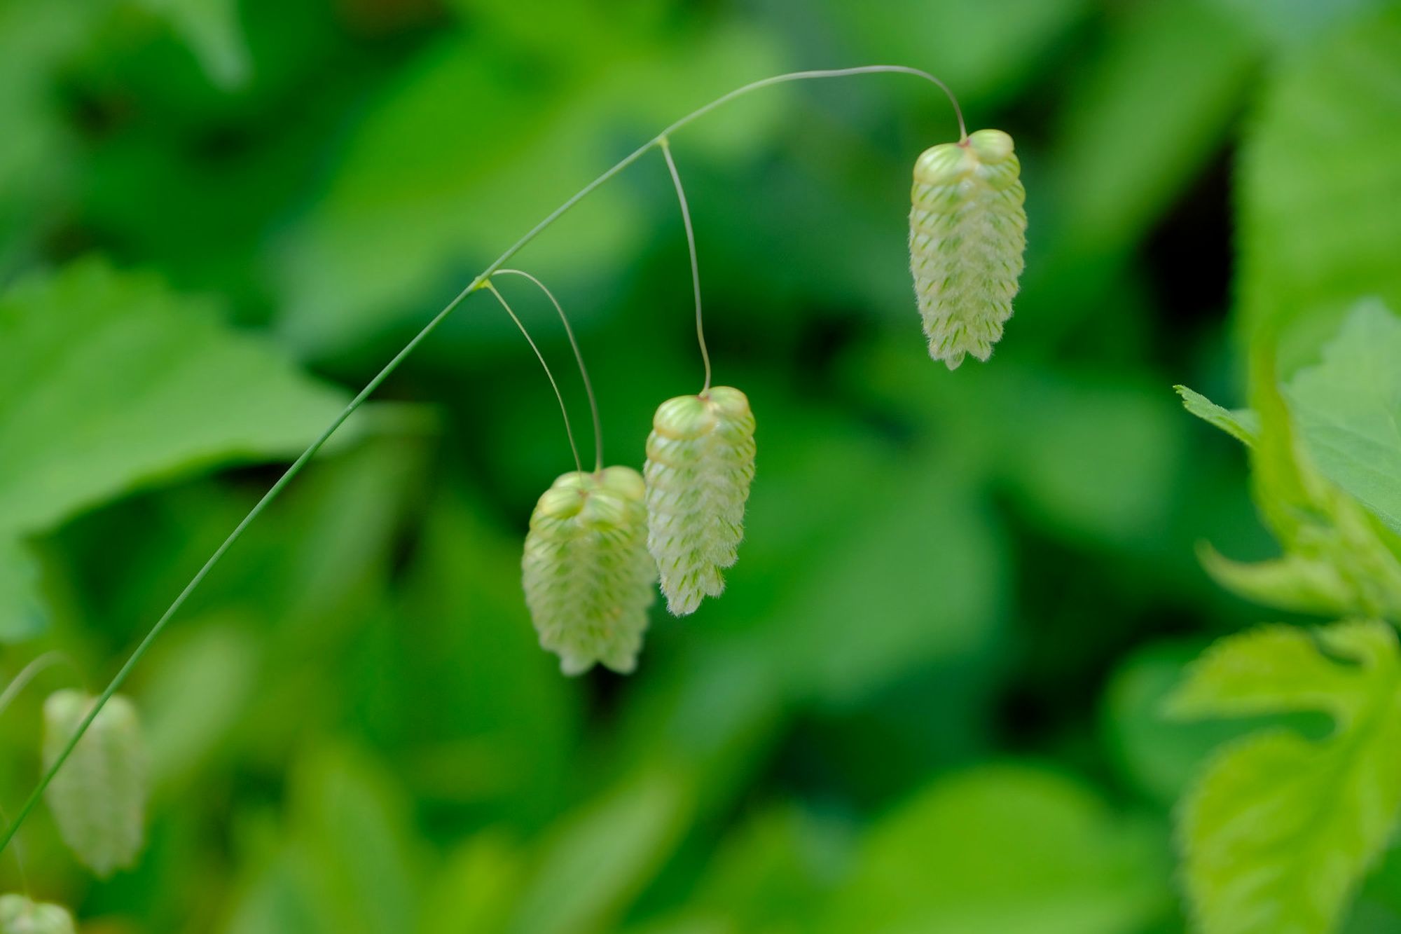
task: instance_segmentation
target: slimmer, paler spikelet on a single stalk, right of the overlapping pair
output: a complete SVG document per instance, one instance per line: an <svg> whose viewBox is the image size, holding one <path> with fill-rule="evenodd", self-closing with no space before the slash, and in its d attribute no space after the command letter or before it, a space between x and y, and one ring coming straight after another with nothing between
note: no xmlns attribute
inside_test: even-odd
<svg viewBox="0 0 1401 934"><path fill-rule="evenodd" d="M754 412L729 386L657 408L647 436L647 548L667 609L693 613L724 590L754 480Z"/></svg>

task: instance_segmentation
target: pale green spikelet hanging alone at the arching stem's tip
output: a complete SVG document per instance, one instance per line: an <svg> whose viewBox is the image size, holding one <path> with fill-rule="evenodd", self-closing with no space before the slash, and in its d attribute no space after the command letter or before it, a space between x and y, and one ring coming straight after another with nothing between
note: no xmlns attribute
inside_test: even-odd
<svg viewBox="0 0 1401 934"><path fill-rule="evenodd" d="M1027 245L1020 174L1002 130L932 146L915 161L909 271L929 355L950 370L964 353L986 360L1012 317Z"/></svg>

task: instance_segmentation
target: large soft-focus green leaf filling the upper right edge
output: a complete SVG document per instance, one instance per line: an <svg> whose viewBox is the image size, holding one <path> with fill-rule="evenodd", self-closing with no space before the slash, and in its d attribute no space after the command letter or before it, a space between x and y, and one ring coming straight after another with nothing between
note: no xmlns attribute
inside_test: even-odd
<svg viewBox="0 0 1401 934"><path fill-rule="evenodd" d="M1362 297L1401 307L1401 8L1328 34L1274 77L1241 151L1243 338L1267 321L1288 377Z"/></svg>

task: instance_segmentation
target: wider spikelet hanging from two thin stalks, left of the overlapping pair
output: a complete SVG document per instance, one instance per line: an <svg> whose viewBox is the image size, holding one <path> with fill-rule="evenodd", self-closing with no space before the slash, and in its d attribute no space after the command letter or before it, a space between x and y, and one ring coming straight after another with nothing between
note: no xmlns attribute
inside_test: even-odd
<svg viewBox="0 0 1401 934"><path fill-rule="evenodd" d="M657 576L644 495L642 474L608 467L565 474L535 503L521 561L525 603L566 675L637 663Z"/></svg>

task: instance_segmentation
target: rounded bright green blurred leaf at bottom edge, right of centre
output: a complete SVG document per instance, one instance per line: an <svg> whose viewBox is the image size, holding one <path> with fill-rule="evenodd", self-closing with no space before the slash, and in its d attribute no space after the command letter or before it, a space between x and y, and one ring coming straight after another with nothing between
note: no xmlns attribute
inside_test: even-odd
<svg viewBox="0 0 1401 934"><path fill-rule="evenodd" d="M1171 902L1164 837L1072 778L984 766L870 830L821 930L1136 934Z"/></svg>

